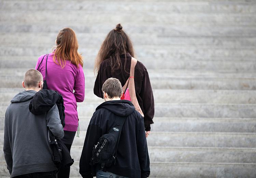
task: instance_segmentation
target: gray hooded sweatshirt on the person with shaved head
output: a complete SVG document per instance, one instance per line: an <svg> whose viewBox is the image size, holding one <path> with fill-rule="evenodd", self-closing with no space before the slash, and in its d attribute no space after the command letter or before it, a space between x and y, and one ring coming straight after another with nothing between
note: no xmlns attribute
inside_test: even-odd
<svg viewBox="0 0 256 178"><path fill-rule="evenodd" d="M48 128L57 139L64 136L57 105L47 113L34 115L29 103L36 91L18 93L5 112L4 158L11 177L56 170L48 141Z"/></svg>

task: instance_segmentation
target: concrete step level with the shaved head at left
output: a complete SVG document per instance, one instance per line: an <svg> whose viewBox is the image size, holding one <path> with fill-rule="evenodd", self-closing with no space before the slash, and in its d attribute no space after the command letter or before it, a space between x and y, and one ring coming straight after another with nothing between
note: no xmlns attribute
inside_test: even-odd
<svg viewBox="0 0 256 178"><path fill-rule="evenodd" d="M19 88L27 69L1 69L0 88ZM86 88L93 88L95 75L85 69ZM200 70L153 70L149 71L153 89L214 89L214 90L255 90L255 72L230 73ZM165 82L162 82L165 81Z"/></svg>

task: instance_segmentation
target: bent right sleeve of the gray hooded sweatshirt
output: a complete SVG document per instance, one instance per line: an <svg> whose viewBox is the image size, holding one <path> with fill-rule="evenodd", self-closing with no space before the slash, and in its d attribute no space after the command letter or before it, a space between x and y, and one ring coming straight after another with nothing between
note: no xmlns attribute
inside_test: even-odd
<svg viewBox="0 0 256 178"><path fill-rule="evenodd" d="M62 139L64 137L63 127L59 118L59 110L56 104L46 113L46 122L56 139Z"/></svg>

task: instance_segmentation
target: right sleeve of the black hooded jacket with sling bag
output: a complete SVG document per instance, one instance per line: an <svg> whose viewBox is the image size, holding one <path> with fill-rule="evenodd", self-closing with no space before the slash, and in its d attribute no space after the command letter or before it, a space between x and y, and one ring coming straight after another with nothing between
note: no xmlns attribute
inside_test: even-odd
<svg viewBox="0 0 256 178"><path fill-rule="evenodd" d="M141 117L140 114L139 114L139 117ZM146 178L150 175L150 159L148 156L144 121L142 117L140 118L139 127L140 128L139 128L139 135L138 135L138 142L137 142L138 157L140 162L141 178Z"/></svg>

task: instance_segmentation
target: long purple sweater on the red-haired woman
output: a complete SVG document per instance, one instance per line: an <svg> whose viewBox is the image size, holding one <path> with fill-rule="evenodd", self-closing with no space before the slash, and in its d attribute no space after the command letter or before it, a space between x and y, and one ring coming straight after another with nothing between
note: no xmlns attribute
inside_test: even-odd
<svg viewBox="0 0 256 178"><path fill-rule="evenodd" d="M66 115L64 130L76 131L78 126L76 102L84 101L84 71L81 65L77 68L74 64L71 64L69 60L66 61L66 66L61 68L60 65L54 63L53 55L54 53L49 53L47 60L47 89L59 92L64 99ZM38 58L35 69L38 68L43 56L44 55ZM38 69L42 73L44 80L46 57L47 55L44 57Z"/></svg>

